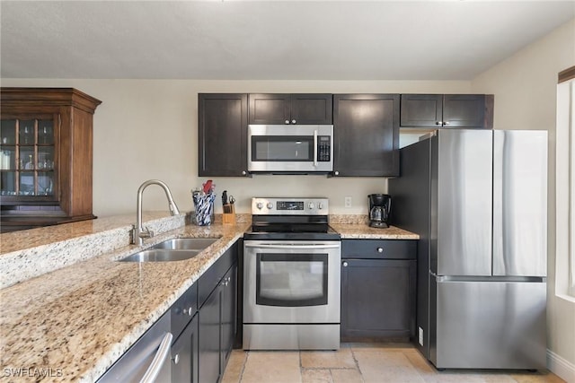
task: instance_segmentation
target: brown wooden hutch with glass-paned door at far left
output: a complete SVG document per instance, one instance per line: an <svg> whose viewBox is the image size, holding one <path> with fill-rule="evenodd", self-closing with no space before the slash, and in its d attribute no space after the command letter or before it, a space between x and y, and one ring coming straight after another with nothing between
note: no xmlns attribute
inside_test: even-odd
<svg viewBox="0 0 575 383"><path fill-rule="evenodd" d="M2 88L2 232L95 218L93 113L72 88Z"/></svg>

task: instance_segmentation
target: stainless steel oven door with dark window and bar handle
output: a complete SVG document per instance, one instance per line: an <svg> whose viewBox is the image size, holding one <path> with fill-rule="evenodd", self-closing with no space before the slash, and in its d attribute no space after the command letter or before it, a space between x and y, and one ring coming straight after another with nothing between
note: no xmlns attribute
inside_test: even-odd
<svg viewBox="0 0 575 383"><path fill-rule="evenodd" d="M243 246L243 323L340 323L341 241Z"/></svg>

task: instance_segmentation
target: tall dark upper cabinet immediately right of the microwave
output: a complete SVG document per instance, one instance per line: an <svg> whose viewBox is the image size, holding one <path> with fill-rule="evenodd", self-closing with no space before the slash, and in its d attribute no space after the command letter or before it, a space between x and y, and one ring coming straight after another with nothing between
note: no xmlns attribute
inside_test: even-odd
<svg viewBox="0 0 575 383"><path fill-rule="evenodd" d="M334 94L333 176L399 175L399 94Z"/></svg>

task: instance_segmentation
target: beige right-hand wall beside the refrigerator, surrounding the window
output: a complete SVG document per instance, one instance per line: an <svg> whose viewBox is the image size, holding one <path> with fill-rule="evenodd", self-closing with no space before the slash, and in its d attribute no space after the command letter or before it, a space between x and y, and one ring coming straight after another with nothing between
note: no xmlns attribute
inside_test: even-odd
<svg viewBox="0 0 575 383"><path fill-rule="evenodd" d="M575 381L575 300L555 291L555 113L557 74L572 65L575 65L575 20L491 67L472 82L473 92L495 95L495 128L549 131L548 349L552 370L562 371L563 379L571 382Z"/></svg>

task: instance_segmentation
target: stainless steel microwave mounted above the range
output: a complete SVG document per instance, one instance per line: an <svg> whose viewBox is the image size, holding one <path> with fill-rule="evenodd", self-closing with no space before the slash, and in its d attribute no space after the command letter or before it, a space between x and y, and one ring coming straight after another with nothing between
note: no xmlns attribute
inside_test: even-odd
<svg viewBox="0 0 575 383"><path fill-rule="evenodd" d="M333 126L248 126L248 170L263 173L332 172Z"/></svg>

